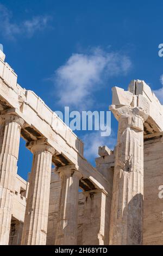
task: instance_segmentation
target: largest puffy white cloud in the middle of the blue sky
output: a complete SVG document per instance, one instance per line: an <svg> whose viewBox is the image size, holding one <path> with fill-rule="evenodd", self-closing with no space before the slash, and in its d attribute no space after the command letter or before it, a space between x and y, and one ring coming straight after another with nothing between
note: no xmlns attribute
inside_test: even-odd
<svg viewBox="0 0 163 256"><path fill-rule="evenodd" d="M78 109L93 103L92 93L110 76L126 75L131 68L128 56L118 52L93 49L89 54L74 53L55 72L54 84L63 106Z"/></svg>

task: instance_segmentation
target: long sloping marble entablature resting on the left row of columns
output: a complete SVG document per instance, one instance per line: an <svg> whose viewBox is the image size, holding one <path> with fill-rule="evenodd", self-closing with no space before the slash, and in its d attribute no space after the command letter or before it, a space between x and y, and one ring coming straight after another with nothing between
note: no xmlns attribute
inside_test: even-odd
<svg viewBox="0 0 163 256"><path fill-rule="evenodd" d="M1 59L0 70L0 113L14 114L24 120L21 137L27 142L46 139L55 149L52 161L56 166L75 164L83 178L107 190L107 181L84 158L83 142L39 96L17 84L17 75L4 59Z"/></svg>

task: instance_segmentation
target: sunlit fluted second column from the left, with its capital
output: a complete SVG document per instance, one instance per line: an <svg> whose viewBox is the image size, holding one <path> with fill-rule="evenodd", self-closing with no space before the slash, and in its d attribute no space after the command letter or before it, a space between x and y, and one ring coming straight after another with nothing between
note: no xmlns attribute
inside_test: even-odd
<svg viewBox="0 0 163 256"><path fill-rule="evenodd" d="M46 245L52 155L43 139L27 144L34 154L24 218L22 245Z"/></svg>

